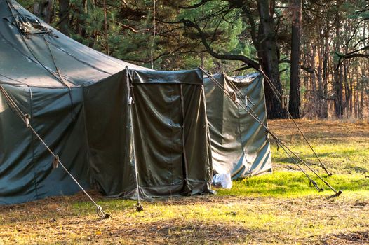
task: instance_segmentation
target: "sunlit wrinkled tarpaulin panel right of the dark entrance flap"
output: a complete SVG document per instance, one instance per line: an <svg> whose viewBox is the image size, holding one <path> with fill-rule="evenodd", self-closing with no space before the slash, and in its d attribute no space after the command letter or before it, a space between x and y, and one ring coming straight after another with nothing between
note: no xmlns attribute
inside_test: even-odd
<svg viewBox="0 0 369 245"><path fill-rule="evenodd" d="M250 99L248 108L267 125L264 85L259 73L236 78L217 74L213 78L235 97L237 92L247 96ZM232 179L238 179L271 172L269 139L264 127L227 97L210 78L205 78L204 87L215 173L229 172Z"/></svg>

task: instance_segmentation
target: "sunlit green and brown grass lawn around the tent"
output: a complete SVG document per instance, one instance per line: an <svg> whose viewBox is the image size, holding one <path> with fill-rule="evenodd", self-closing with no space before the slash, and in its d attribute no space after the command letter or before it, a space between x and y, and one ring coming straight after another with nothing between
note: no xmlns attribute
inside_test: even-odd
<svg viewBox="0 0 369 245"><path fill-rule="evenodd" d="M369 123L300 120L326 177L290 120L273 132L337 190L318 193L282 150L272 147L274 173L234 181L217 195L143 202L107 200L101 220L81 193L0 207L0 244L368 244ZM312 175L311 175L312 176Z"/></svg>

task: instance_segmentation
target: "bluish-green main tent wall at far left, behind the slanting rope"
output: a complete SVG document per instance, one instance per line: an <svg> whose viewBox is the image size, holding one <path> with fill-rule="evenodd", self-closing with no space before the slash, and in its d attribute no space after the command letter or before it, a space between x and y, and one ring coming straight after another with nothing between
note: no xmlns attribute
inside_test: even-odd
<svg viewBox="0 0 369 245"><path fill-rule="evenodd" d="M72 89L72 112L66 89L2 85L31 116L30 124L60 156L65 167L88 186L87 144L81 90ZM76 193L79 188L27 129L1 94L0 204L27 202L51 195Z"/></svg>

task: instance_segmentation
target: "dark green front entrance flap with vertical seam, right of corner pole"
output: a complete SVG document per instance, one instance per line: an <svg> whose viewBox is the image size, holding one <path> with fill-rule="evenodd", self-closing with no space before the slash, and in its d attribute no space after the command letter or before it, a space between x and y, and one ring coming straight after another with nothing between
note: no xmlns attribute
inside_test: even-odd
<svg viewBox="0 0 369 245"><path fill-rule="evenodd" d="M132 71L133 137L147 197L210 192L206 107L199 71Z"/></svg>

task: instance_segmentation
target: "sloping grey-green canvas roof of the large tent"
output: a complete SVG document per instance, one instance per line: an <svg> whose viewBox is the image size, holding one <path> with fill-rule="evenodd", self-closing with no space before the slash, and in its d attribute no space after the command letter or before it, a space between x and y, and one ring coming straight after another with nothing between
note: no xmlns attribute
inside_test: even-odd
<svg viewBox="0 0 369 245"><path fill-rule="evenodd" d="M23 31L26 34L15 22L27 28ZM111 76L126 66L147 69L74 41L13 0L0 0L0 57L0 83L35 87L65 87L63 83L81 86Z"/></svg>

